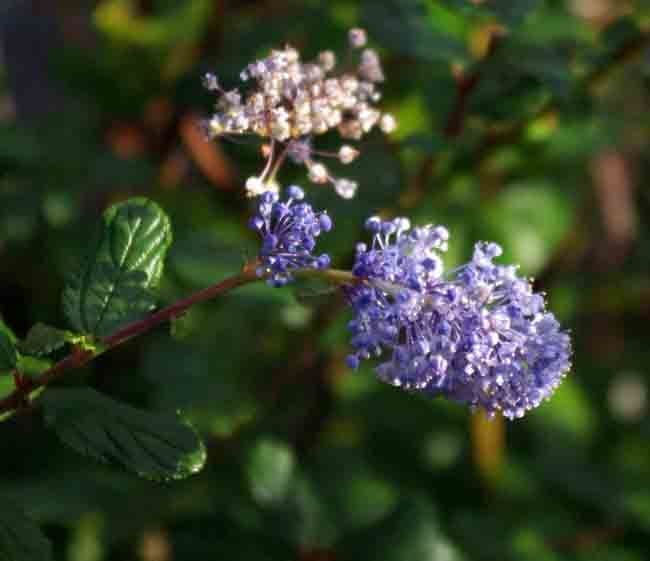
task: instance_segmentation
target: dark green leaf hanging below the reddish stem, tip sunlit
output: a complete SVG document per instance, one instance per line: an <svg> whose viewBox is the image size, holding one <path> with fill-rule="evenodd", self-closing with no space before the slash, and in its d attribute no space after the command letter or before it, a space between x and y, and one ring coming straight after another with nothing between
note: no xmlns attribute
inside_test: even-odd
<svg viewBox="0 0 650 561"><path fill-rule="evenodd" d="M45 422L65 444L141 477L183 479L205 464L200 438L174 415L141 411L89 388L50 390L42 403Z"/></svg>

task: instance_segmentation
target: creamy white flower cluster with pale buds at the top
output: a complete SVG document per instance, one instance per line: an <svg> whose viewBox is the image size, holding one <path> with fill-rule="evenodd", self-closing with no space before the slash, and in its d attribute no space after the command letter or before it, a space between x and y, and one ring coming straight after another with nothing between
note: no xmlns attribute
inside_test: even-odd
<svg viewBox="0 0 650 561"><path fill-rule="evenodd" d="M264 172L247 181L249 196L270 190L277 171L271 160L278 146L285 150L278 157L280 162L288 155L307 167L314 183L332 183L344 198L355 195L354 181L336 178L324 164L314 161L319 153L312 149L311 138L337 129L343 138L360 140L377 125L385 133L396 128L395 118L375 106L381 97L377 83L384 80L384 74L377 53L365 48L366 41L364 30L350 30L349 42L352 48L361 49L360 60L356 69L338 75L333 74L336 55L332 51L319 53L314 62L302 62L293 47L271 51L241 73L244 82L255 83L246 96L238 89L223 90L214 75L206 75L206 87L219 94L217 112L206 123L208 136L253 134L270 141ZM359 152L344 145L337 154L321 154L349 164Z"/></svg>

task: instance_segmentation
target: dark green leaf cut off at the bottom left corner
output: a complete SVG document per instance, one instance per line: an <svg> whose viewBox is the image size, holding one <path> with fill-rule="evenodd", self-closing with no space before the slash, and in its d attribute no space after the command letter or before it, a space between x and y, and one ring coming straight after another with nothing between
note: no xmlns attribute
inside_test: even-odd
<svg viewBox="0 0 650 561"><path fill-rule="evenodd" d="M0 561L50 561L50 542L23 512L0 499Z"/></svg>

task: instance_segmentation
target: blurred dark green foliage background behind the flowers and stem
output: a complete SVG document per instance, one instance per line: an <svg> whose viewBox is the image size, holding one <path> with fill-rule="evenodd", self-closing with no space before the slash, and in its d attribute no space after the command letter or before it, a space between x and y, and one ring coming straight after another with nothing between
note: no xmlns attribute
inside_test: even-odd
<svg viewBox="0 0 650 561"><path fill-rule="evenodd" d="M66 377L183 410L207 441L201 474L95 464L38 408L0 425L0 496L56 559L648 558L646 2L5 0L0 25L0 312L19 336L65 325L65 274L129 196L172 220L165 302L236 272L255 251L242 185L261 159L203 142L201 74L234 85L272 46L341 51L363 25L400 128L363 143L354 201L311 188L337 224L323 246L349 266L377 211L447 225L450 267L496 240L576 351L549 403L488 423L347 371L337 298L229 294L173 339L159 328Z"/></svg>

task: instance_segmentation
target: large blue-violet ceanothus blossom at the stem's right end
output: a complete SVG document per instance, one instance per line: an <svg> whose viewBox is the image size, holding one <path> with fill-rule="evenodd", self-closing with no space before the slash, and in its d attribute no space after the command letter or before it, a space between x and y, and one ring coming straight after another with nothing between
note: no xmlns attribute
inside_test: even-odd
<svg viewBox="0 0 650 561"><path fill-rule="evenodd" d="M444 273L446 228L374 217L366 227L372 244L358 244L353 268L360 282L346 288L350 367L382 357L381 380L490 416L522 417L551 396L570 367L569 336L516 267L493 262L497 244L477 243L469 263Z"/></svg>

